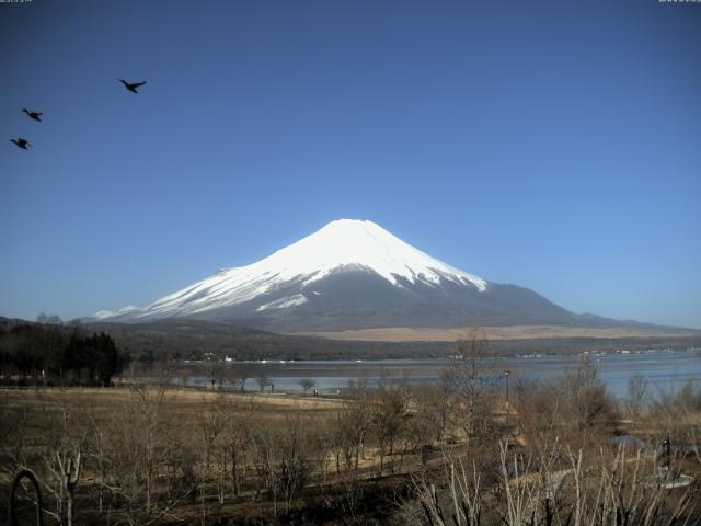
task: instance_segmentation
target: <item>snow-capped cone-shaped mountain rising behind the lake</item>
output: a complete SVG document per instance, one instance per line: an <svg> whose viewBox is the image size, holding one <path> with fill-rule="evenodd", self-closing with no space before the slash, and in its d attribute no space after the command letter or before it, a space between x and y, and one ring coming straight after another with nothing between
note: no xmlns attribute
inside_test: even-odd
<svg viewBox="0 0 701 526"><path fill-rule="evenodd" d="M340 219L248 266L145 307L90 321L193 318L275 332L386 327L621 324L575 315L516 285L487 282L411 247L368 220Z"/></svg>

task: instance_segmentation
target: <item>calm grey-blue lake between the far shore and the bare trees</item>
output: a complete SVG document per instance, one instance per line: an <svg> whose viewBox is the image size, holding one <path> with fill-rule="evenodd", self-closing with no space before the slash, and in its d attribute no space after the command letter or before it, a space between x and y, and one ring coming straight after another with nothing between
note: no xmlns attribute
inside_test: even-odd
<svg viewBox="0 0 701 526"><path fill-rule="evenodd" d="M577 365L583 355L528 355L499 358L498 369L509 370L509 382L519 379L556 381ZM587 355L596 364L599 378L610 392L624 397L632 376L642 375L648 380L650 392L677 390L687 380L701 380L701 350L687 351L641 351ZM384 381L407 381L410 384L438 381L440 370L449 364L447 359L377 359L377 361L304 361L304 362L242 362L230 363L228 367L245 367L249 370L246 389L257 387L255 378L266 376L275 385L276 392L299 392L300 380L314 381L314 389L321 393L335 393L347 388L350 381L365 380L370 386ZM186 364L191 368L188 384L207 386L202 364ZM505 378L499 379L505 384Z"/></svg>

